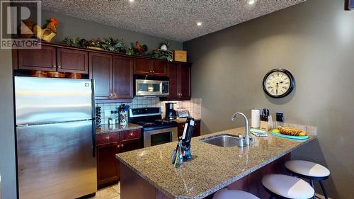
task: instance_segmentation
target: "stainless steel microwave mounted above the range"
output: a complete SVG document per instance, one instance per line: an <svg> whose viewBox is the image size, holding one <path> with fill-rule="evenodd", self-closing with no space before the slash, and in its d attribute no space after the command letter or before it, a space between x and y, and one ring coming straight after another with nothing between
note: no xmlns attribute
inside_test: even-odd
<svg viewBox="0 0 354 199"><path fill-rule="evenodd" d="M135 96L169 96L169 77L135 75Z"/></svg>

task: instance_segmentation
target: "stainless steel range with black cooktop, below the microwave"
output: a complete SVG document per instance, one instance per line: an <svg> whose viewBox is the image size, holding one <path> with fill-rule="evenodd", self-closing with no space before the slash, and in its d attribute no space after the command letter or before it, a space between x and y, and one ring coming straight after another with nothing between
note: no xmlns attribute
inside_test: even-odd
<svg viewBox="0 0 354 199"><path fill-rule="evenodd" d="M129 110L129 122L144 127L144 147L178 140L177 122L161 118L161 108L132 108Z"/></svg>

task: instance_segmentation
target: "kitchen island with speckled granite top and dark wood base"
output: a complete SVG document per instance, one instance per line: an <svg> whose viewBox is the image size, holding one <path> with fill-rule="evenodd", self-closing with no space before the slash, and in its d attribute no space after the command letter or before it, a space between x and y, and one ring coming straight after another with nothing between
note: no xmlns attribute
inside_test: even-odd
<svg viewBox="0 0 354 199"><path fill-rule="evenodd" d="M256 137L249 147L217 147L200 142L219 134L244 135L244 127L194 137L193 159L179 168L171 164L176 142L117 154L120 161L120 194L130 198L207 198L224 187L249 191L263 198L261 177L282 173L290 152L316 139L298 142L273 135Z"/></svg>

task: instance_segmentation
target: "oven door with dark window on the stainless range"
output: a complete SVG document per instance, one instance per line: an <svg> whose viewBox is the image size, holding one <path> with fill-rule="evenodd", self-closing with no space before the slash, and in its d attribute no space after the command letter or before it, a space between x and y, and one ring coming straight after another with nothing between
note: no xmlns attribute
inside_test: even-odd
<svg viewBox="0 0 354 199"><path fill-rule="evenodd" d="M177 127L144 131L144 147L151 147L177 140Z"/></svg>

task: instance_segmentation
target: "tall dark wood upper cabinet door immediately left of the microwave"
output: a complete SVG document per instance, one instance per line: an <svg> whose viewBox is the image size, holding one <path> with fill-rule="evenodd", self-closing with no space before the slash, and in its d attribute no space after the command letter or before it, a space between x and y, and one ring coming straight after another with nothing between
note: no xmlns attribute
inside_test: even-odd
<svg viewBox="0 0 354 199"><path fill-rule="evenodd" d="M113 98L134 97L133 60L130 57L114 57L113 62Z"/></svg>

